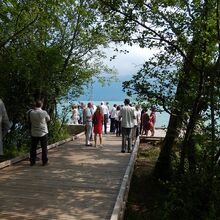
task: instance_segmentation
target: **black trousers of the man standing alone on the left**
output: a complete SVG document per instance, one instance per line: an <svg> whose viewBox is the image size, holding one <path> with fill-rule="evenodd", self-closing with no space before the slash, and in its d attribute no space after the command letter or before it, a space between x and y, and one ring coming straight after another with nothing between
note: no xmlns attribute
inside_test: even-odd
<svg viewBox="0 0 220 220"><path fill-rule="evenodd" d="M37 145L40 142L42 149L42 162L43 164L47 163L47 134L42 137L33 137L31 136L31 149L30 149L30 163L35 164L37 157Z"/></svg>

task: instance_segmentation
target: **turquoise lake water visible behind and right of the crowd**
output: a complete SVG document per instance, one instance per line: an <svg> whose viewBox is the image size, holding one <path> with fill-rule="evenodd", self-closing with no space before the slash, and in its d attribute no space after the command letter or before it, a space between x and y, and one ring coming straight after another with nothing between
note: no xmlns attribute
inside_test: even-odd
<svg viewBox="0 0 220 220"><path fill-rule="evenodd" d="M103 100L104 102L106 102L105 100ZM88 101L79 101L79 102L74 102L74 103L81 103L83 102L84 104L87 105ZM113 107L114 104L116 105L123 105L123 101L107 101L109 103L109 108L111 110L111 108ZM96 106L101 105L101 101L92 101L92 103ZM150 113L150 112L149 112ZM69 113L71 115L71 112ZM70 116L69 116L70 118ZM163 127L163 128L167 128L168 126L168 122L169 122L169 114L166 112L156 112L156 127Z"/></svg>

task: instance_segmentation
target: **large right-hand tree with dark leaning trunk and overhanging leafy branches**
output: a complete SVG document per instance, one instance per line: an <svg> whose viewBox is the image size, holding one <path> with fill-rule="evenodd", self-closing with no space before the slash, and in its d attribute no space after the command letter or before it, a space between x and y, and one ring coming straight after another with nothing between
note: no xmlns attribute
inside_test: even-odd
<svg viewBox="0 0 220 220"><path fill-rule="evenodd" d="M190 149L195 128L209 105L208 70L218 56L216 2L105 0L100 5L114 41L160 49L124 88L171 113L155 168L158 177L167 178L180 129L186 129L180 170L184 169L186 153L188 161L193 161Z"/></svg>

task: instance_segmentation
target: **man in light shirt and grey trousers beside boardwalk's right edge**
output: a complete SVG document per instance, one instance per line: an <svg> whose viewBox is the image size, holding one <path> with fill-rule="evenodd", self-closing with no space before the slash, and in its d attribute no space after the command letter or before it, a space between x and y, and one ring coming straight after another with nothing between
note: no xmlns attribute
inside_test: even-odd
<svg viewBox="0 0 220 220"><path fill-rule="evenodd" d="M126 151L126 142L127 143L127 152L131 152L132 144L132 128L134 127L135 113L134 108L130 106L130 100L124 100L124 106L119 112L119 118L122 118L121 127L122 127L122 149L121 152L125 153Z"/></svg>

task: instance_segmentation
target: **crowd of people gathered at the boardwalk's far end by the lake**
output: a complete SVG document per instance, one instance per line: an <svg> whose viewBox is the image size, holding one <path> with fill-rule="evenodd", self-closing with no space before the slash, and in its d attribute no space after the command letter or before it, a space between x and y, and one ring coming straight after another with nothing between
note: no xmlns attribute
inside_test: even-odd
<svg viewBox="0 0 220 220"><path fill-rule="evenodd" d="M86 135L86 146L92 146L94 134L94 144L97 147L97 138L102 147L102 134L107 134L107 124L110 122L110 133L116 136L122 135L122 152L131 151L139 134L151 136L155 134L156 108L152 107L150 115L146 107L141 108L140 105L132 106L129 99L124 100L124 105L114 104L110 109L108 103L101 102L95 106L89 102L87 106L84 103L72 106L72 123L84 124ZM128 143L126 144L126 141Z"/></svg>

